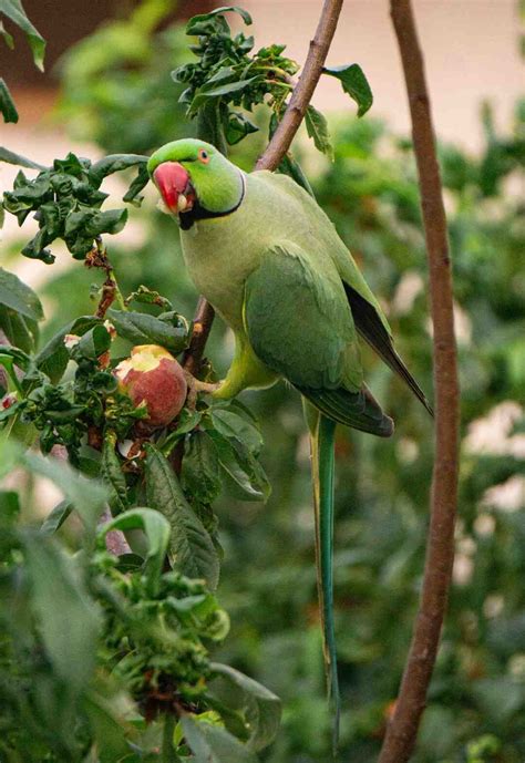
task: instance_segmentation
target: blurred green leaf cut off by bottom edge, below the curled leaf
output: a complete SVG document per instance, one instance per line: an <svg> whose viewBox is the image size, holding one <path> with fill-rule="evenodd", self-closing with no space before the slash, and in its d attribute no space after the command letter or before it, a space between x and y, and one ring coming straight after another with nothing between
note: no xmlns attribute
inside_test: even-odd
<svg viewBox="0 0 525 763"><path fill-rule="evenodd" d="M195 763L257 763L255 755L225 729L194 720L181 719L187 745Z"/></svg>

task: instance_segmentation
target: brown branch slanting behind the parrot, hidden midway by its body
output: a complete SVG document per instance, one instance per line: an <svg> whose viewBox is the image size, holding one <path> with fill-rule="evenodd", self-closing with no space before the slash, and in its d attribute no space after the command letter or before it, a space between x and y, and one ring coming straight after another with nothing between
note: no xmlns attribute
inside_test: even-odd
<svg viewBox="0 0 525 763"><path fill-rule="evenodd" d="M310 41L302 74L294 89L279 126L256 164L256 169L276 169L289 149L322 74L322 66L336 32L342 3L343 0L325 0L316 34ZM192 373L198 371L213 321L214 309L200 297L194 318L192 341L184 359L184 367Z"/></svg>

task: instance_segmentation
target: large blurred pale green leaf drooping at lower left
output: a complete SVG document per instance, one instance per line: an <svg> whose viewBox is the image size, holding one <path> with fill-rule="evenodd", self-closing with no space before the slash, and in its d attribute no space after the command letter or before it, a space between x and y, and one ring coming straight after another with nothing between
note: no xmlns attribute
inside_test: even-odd
<svg viewBox="0 0 525 763"><path fill-rule="evenodd" d="M99 608L91 600L74 559L39 534L23 535L32 602L45 651L73 693L87 685L94 669Z"/></svg>

